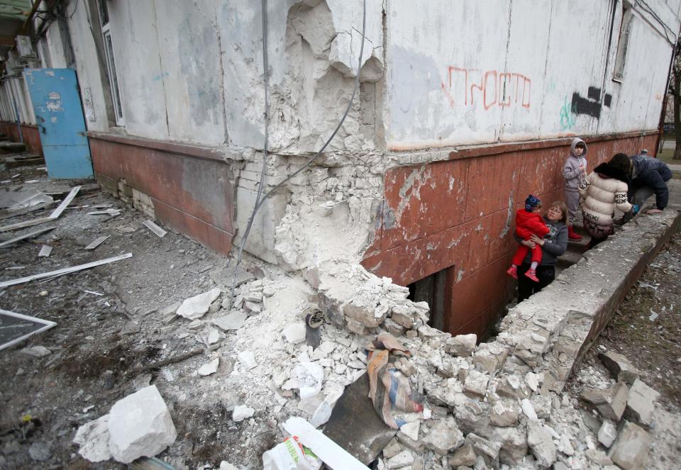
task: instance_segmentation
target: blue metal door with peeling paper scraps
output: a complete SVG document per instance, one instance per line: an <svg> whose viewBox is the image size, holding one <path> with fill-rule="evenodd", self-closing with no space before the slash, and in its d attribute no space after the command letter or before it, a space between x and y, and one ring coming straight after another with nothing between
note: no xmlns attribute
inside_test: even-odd
<svg viewBox="0 0 681 470"><path fill-rule="evenodd" d="M92 178L74 69L24 69L50 178Z"/></svg>

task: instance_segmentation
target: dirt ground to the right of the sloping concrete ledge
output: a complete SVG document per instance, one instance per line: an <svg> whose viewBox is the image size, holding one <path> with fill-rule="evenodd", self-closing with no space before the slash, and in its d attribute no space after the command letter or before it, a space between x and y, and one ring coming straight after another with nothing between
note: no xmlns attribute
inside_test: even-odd
<svg viewBox="0 0 681 470"><path fill-rule="evenodd" d="M649 469L675 468L681 457L681 233L648 265L587 353L566 390L576 397L609 373L600 351L624 354L660 393L655 405Z"/></svg>

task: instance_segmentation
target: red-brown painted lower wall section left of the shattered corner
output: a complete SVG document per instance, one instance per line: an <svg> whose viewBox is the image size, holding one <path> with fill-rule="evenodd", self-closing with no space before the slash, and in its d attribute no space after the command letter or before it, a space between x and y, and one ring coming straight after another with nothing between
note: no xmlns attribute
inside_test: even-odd
<svg viewBox="0 0 681 470"><path fill-rule="evenodd" d="M211 153L202 147L116 140L92 135L89 139L95 176L103 186L115 188L125 179L128 186L150 196L162 223L217 252L231 250L234 185L226 162L197 157Z"/></svg>

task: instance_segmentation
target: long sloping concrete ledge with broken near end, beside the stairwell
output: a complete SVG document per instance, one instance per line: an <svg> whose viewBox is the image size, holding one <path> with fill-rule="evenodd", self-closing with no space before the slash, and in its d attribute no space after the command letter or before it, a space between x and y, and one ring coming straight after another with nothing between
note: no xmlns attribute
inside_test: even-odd
<svg viewBox="0 0 681 470"><path fill-rule="evenodd" d="M565 269L553 284L511 308L499 342L560 392L631 286L681 226L671 209L639 216Z"/></svg>

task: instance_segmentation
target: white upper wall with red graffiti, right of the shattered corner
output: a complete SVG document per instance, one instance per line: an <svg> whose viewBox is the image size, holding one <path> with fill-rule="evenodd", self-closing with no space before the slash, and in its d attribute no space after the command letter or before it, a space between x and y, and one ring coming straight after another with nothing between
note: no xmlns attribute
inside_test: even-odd
<svg viewBox="0 0 681 470"><path fill-rule="evenodd" d="M657 128L672 45L653 16L635 13L625 79L613 82L622 7L616 2L609 43L612 4L503 0L492 9L474 0L387 2L388 147ZM648 5L668 30L679 30L679 1ZM598 118L572 106L575 93L588 99L589 86L599 89Z"/></svg>

